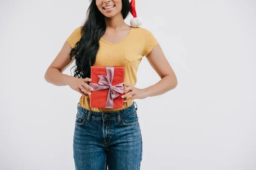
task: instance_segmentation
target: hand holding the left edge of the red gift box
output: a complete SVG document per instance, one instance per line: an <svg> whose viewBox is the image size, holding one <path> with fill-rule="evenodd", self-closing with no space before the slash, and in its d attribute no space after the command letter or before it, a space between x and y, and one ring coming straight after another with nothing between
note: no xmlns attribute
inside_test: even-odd
<svg viewBox="0 0 256 170"><path fill-rule="evenodd" d="M87 84L90 81L91 81L91 79L88 78L88 77L86 77L85 79L72 77L72 78L69 79L68 85L74 91L78 91L81 95L88 98L89 97L88 95L91 95L90 92L93 91L93 88L90 85Z"/></svg>

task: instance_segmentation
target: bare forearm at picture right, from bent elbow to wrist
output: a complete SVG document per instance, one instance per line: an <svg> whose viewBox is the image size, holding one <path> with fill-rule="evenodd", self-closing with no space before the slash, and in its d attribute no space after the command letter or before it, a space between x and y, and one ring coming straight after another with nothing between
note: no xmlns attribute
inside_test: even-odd
<svg viewBox="0 0 256 170"><path fill-rule="evenodd" d="M159 82L154 85L151 85L143 90L147 94L147 96L158 96L161 94L166 93L174 89L177 86L177 79L176 77L173 78L172 76L163 77Z"/></svg>

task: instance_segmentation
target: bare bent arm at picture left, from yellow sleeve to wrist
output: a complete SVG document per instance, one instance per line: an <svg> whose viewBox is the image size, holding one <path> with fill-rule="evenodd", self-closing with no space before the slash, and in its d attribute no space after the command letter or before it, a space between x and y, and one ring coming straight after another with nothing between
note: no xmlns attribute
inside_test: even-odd
<svg viewBox="0 0 256 170"><path fill-rule="evenodd" d="M66 41L61 48L61 51L58 53L57 57L53 60L49 68L47 68L46 73L44 74L44 79L57 86L67 85L68 79L75 78L73 76L69 76L67 74L62 74L62 72L70 66L73 62L70 62L66 67L65 65L70 61L70 51L71 51L70 44Z"/></svg>

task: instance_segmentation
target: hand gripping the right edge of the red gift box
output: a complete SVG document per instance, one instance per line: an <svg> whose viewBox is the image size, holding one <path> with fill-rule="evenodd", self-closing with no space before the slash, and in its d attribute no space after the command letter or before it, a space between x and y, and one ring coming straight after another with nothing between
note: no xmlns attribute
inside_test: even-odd
<svg viewBox="0 0 256 170"><path fill-rule="evenodd" d="M124 92L129 91L127 94L122 95L122 98L125 98L126 96L132 95L129 99L125 100L124 102L128 102L133 99L145 99L147 97L147 94L145 90L140 88L135 88L132 85L124 83L124 85L127 87L124 89Z"/></svg>

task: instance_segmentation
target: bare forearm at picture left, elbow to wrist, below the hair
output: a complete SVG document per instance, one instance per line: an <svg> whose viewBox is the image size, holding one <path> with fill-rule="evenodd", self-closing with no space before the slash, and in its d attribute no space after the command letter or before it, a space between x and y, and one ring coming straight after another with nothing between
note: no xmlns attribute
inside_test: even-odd
<svg viewBox="0 0 256 170"><path fill-rule="evenodd" d="M67 74L62 74L57 68L48 68L44 75L44 79L47 82L57 86L68 85L68 81L71 78L74 77Z"/></svg>

